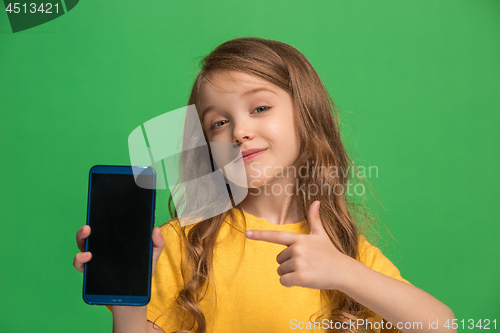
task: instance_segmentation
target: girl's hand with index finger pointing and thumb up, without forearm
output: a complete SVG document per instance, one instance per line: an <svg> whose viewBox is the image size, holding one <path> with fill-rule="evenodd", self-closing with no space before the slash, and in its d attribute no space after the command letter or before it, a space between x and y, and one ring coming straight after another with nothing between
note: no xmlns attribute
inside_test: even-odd
<svg viewBox="0 0 500 333"><path fill-rule="evenodd" d="M249 230L249 239L286 245L277 257L278 274L285 287L340 289L352 259L333 245L319 218L319 201L307 213L309 235L275 230Z"/></svg>

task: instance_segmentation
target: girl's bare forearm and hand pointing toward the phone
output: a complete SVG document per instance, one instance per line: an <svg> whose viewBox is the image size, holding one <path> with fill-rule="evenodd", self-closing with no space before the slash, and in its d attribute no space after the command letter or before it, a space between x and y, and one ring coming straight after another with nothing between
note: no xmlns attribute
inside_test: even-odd
<svg viewBox="0 0 500 333"><path fill-rule="evenodd" d="M426 292L388 277L341 253L331 242L319 217L319 201L309 207L309 235L275 230L249 230L254 240L286 245L276 260L278 274L285 287L336 289L390 321L393 327L409 332L456 332L444 324L455 316L450 308ZM438 321L438 328L429 323ZM422 323L407 329L405 323ZM401 325L401 324L400 324ZM407 324L408 325L408 324Z"/></svg>

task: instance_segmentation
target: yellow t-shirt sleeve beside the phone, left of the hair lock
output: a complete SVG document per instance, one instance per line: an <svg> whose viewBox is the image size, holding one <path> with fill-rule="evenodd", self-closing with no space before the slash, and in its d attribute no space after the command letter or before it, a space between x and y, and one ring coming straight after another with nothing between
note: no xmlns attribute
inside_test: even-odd
<svg viewBox="0 0 500 333"><path fill-rule="evenodd" d="M147 319L160 326L165 332L174 328L177 305L175 298L183 288L181 274L181 243L180 225L178 220L172 220L160 227L165 247L163 248L156 269L151 279L151 300L147 305ZM111 311L111 306L106 305Z"/></svg>

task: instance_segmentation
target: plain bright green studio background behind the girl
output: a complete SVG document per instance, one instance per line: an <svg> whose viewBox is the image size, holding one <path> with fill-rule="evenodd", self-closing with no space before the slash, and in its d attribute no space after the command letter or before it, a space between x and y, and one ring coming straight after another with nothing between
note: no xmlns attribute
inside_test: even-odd
<svg viewBox="0 0 500 333"><path fill-rule="evenodd" d="M89 169L128 164L130 132L185 106L198 57L241 36L315 66L356 164L378 167L402 276L459 320L500 320L499 1L115 0L15 34L0 13L0 331L111 331L72 266Z"/></svg>

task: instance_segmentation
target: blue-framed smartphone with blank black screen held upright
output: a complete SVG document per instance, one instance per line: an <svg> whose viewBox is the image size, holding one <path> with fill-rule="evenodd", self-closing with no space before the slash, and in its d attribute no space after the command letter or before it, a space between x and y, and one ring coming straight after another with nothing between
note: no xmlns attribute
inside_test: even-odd
<svg viewBox="0 0 500 333"><path fill-rule="evenodd" d="M146 305L151 298L156 172L151 167L90 169L83 300L97 305Z"/></svg>

